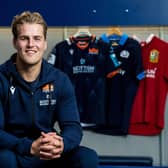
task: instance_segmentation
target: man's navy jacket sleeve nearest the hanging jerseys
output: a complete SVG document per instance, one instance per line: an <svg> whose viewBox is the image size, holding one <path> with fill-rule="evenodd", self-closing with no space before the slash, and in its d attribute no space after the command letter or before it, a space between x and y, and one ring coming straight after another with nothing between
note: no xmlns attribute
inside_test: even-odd
<svg viewBox="0 0 168 168"><path fill-rule="evenodd" d="M58 122L64 141L64 152L67 152L77 147L82 139L74 89L67 76L61 84L58 103Z"/></svg>

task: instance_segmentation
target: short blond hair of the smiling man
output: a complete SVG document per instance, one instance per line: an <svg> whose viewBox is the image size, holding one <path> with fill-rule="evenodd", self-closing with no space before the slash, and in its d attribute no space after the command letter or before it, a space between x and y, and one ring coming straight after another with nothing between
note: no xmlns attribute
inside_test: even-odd
<svg viewBox="0 0 168 168"><path fill-rule="evenodd" d="M19 15L14 16L12 20L12 33L14 38L18 37L18 25L22 25L24 23L30 23L30 24L40 24L43 26L43 32L44 32L44 38L47 37L47 23L45 22L42 15L38 12L30 12L30 11L24 11Z"/></svg>

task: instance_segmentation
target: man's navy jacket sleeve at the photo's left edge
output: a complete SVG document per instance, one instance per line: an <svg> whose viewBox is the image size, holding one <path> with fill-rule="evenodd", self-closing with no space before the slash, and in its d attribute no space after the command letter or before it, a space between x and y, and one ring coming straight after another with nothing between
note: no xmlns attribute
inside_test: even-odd
<svg viewBox="0 0 168 168"><path fill-rule="evenodd" d="M0 87L2 91L2 88ZM30 148L32 141L27 138L17 138L16 136L5 131L5 103L4 98L2 98L2 93L0 94L0 150L8 149L14 150L20 154L30 154Z"/></svg>

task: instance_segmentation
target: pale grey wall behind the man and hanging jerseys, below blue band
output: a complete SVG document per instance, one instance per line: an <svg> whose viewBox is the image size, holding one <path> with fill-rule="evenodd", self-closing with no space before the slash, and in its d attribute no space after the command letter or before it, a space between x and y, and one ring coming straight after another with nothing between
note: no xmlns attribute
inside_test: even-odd
<svg viewBox="0 0 168 168"><path fill-rule="evenodd" d="M80 27L49 27L48 49L45 58L54 45L63 39L73 35ZM92 34L100 36L106 33L109 27L87 27ZM168 27L120 27L121 31L132 36L137 35L140 39L146 39L150 33L160 36L168 41ZM0 28L0 63L4 62L15 52L12 47L12 37L9 27ZM84 131L82 145L95 148L100 155L112 156L151 156L154 165L168 166L168 106L166 107L166 126L160 136L109 136Z"/></svg>

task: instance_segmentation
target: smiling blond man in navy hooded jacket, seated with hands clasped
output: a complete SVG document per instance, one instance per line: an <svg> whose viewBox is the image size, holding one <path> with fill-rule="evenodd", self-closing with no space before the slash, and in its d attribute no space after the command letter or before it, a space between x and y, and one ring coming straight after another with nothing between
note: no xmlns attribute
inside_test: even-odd
<svg viewBox="0 0 168 168"><path fill-rule="evenodd" d="M97 168L96 152L79 146L82 129L70 80L43 59L43 17L29 11L15 16L12 33L17 53L0 66L1 168Z"/></svg>

